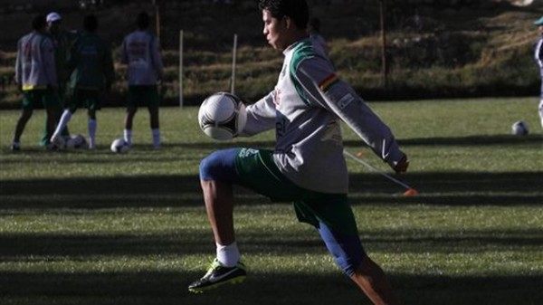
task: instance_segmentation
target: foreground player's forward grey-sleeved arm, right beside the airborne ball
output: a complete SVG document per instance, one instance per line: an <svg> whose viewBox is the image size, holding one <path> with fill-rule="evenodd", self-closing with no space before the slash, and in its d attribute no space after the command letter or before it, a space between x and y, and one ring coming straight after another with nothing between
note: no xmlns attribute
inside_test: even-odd
<svg viewBox="0 0 543 305"><path fill-rule="evenodd" d="M239 135L240 137L250 137L275 128L274 99L275 92L271 91L261 100L247 106L247 123L243 132Z"/></svg>

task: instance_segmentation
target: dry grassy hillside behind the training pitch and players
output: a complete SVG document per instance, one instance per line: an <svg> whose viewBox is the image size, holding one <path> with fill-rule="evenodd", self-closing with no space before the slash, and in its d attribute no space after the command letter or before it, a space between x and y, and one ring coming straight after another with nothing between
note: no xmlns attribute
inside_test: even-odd
<svg viewBox="0 0 543 305"><path fill-rule="evenodd" d="M321 19L330 57L339 74L368 100L537 95L538 71L532 45L538 33L532 22L543 15L535 0L519 7L505 1L387 1L386 86L382 73L378 1L313 0L312 14ZM13 76L17 39L28 32L33 14L56 7L64 28L78 29L87 11L75 1L30 1L1 7L1 107L18 103ZM184 96L195 104L213 91L229 90L233 34L238 35L236 92L254 100L270 91L281 65L281 53L262 37L256 1L159 1L160 37L167 63L165 98L176 104L178 91L179 31L184 33ZM0 4L2 5L2 4ZM132 30L141 10L154 13L151 1L104 1L95 12L100 33L113 50ZM119 80L123 68L117 66ZM110 104L123 103L125 85L119 81Z"/></svg>

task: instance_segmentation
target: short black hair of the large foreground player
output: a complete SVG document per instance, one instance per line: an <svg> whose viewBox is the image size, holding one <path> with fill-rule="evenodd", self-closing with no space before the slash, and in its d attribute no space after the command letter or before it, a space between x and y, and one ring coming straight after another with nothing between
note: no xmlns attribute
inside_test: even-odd
<svg viewBox="0 0 543 305"><path fill-rule="evenodd" d="M291 18L300 30L306 29L310 20L310 8L306 0L260 0L258 7L270 11L273 18Z"/></svg>

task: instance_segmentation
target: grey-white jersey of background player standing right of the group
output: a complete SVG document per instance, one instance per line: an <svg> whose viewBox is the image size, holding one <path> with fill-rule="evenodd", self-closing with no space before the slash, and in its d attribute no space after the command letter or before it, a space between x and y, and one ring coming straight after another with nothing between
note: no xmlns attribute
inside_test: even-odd
<svg viewBox="0 0 543 305"><path fill-rule="evenodd" d="M121 62L129 65L129 86L156 85L164 66L157 37L148 31L127 35L121 45Z"/></svg>

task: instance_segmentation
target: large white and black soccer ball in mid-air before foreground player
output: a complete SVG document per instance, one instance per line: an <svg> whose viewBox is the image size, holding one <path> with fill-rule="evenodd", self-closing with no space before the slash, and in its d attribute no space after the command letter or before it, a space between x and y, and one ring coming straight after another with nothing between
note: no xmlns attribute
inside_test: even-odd
<svg viewBox="0 0 543 305"><path fill-rule="evenodd" d="M227 140L239 135L245 123L245 105L235 95L217 92L202 102L198 110L198 124L204 133L214 139Z"/></svg>

